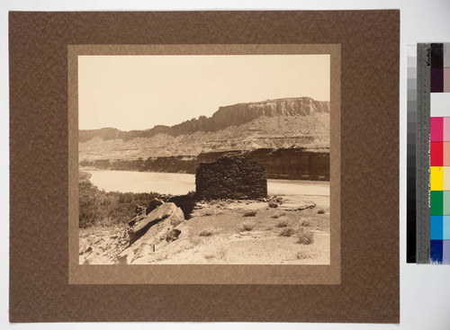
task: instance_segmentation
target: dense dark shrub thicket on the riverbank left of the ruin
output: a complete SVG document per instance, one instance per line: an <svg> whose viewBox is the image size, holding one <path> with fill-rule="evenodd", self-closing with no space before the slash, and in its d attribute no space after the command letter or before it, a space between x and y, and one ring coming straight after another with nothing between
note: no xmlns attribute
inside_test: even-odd
<svg viewBox="0 0 450 330"><path fill-rule="evenodd" d="M89 181L90 174L79 174L79 227L108 227L127 223L136 205L147 206L156 192L104 192Z"/></svg>

